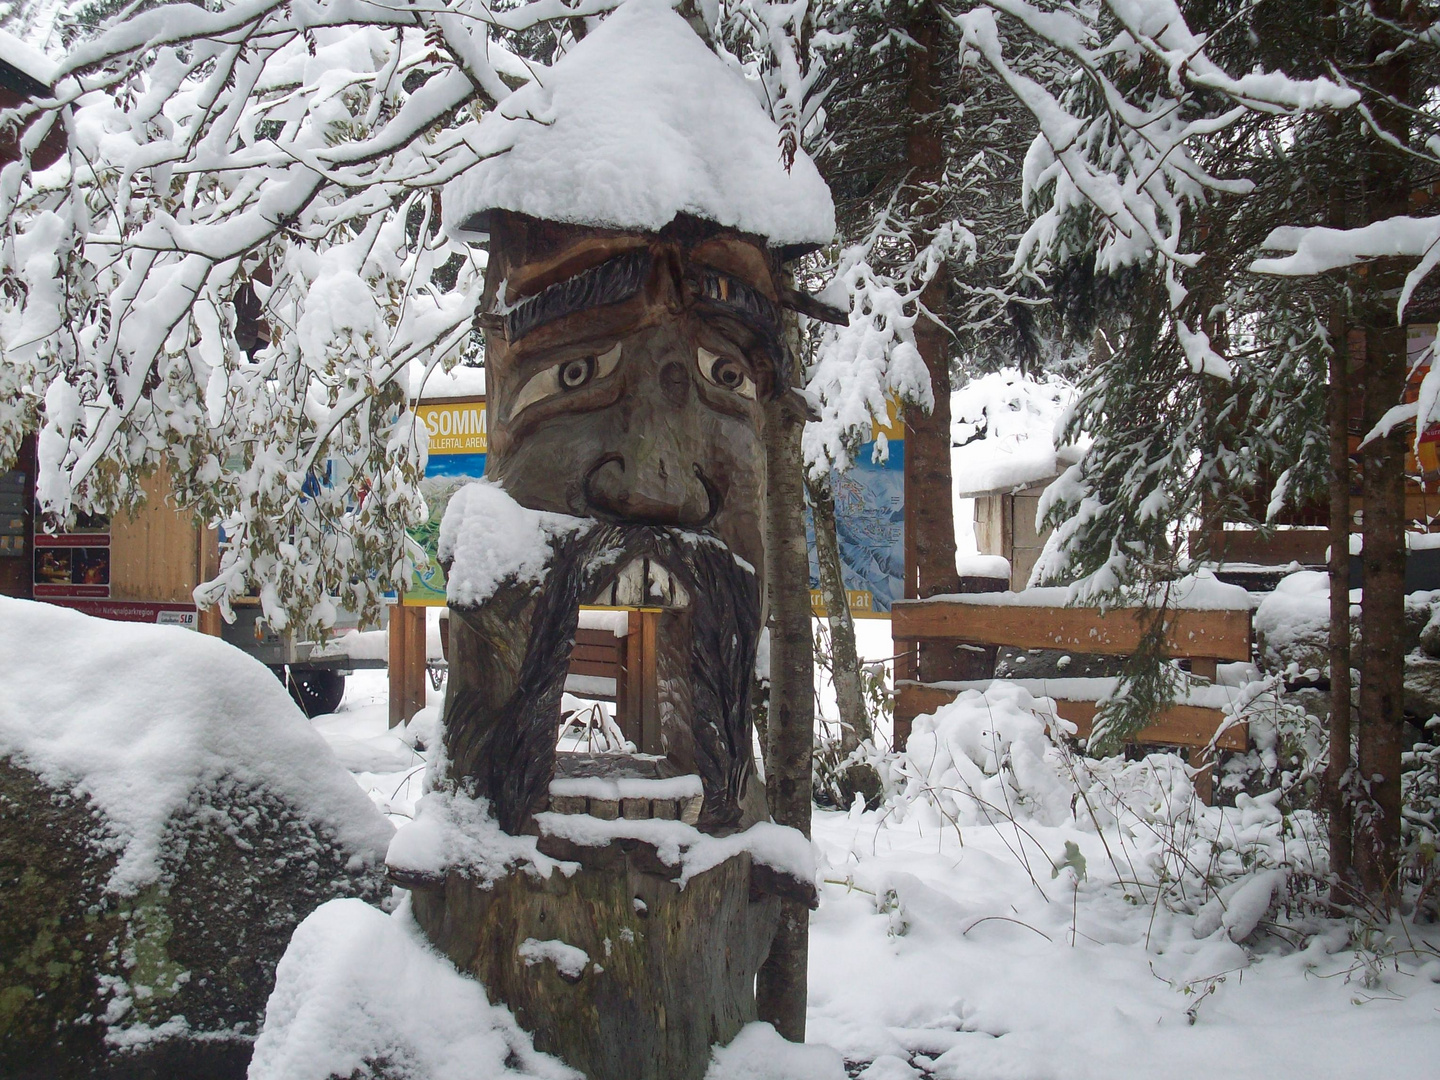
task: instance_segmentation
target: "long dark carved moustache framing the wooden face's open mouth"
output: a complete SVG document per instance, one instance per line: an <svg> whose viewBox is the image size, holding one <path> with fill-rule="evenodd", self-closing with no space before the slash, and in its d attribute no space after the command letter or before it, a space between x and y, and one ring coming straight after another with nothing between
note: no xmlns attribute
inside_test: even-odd
<svg viewBox="0 0 1440 1080"><path fill-rule="evenodd" d="M490 799L510 834L524 832L549 798L579 605L639 559L664 566L688 595L688 665L677 672L688 710L662 717L665 757L677 775L700 775L701 829L742 824L753 773L749 710L760 583L714 536L596 523L553 543L543 582L501 586L480 608L451 612L452 678L467 675L446 698L449 775Z"/></svg>

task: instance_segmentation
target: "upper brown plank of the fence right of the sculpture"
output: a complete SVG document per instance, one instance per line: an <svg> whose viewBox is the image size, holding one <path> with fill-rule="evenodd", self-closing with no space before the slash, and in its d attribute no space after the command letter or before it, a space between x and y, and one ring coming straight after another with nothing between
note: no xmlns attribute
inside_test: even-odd
<svg viewBox="0 0 1440 1080"><path fill-rule="evenodd" d="M896 639L969 641L1027 649L1128 655L1145 632L1133 609L1102 615L1094 608L1031 608L950 600L896 600ZM1165 654L1250 660L1248 611L1176 611L1169 615Z"/></svg>

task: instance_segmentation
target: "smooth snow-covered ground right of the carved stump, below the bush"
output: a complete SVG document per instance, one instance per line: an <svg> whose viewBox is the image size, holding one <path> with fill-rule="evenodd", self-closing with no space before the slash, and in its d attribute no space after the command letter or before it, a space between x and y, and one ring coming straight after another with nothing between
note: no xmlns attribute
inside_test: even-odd
<svg viewBox="0 0 1440 1080"><path fill-rule="evenodd" d="M1387 1077L1436 1076L1433 927L1392 927L1392 949L1408 932L1418 950L1398 965L1346 948L1338 923L1253 955L1126 900L1093 831L1024 832L816 812L809 1040L874 1060L873 1080L1361 1077L1381 1061ZM1067 842L1089 870L1079 886L1041 854Z"/></svg>

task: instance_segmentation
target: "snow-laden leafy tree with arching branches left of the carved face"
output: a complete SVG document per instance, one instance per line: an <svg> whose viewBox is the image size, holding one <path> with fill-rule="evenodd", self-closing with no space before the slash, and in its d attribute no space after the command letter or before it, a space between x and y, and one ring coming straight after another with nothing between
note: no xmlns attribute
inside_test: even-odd
<svg viewBox="0 0 1440 1080"><path fill-rule="evenodd" d="M225 528L222 608L373 612L420 513L409 373L478 344L441 189L485 109L612 6L173 3L78 40L53 99L0 117L26 148L68 140L0 174L0 458L37 428L60 518L167 469Z"/></svg>

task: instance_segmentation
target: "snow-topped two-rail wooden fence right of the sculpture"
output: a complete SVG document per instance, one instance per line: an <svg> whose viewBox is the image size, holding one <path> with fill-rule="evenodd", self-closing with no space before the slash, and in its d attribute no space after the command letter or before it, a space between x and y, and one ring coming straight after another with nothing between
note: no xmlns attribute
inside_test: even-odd
<svg viewBox="0 0 1440 1080"><path fill-rule="evenodd" d="M968 645L1005 645L1021 649L1060 649L1103 655L1128 655L1140 647L1152 612L1135 608L1112 608L1102 613L1096 608L1067 608L1061 589L1031 589L1022 593L978 593L937 596L927 600L896 600L891 608L891 634L896 652L907 654L922 641L945 641ZM1215 680L1221 662L1250 660L1250 611L1231 609L1172 609L1165 616L1162 652L1168 658L1189 660L1195 675ZM896 680L896 744L910 734L914 717L932 713L955 700L965 688L984 683L919 683L906 678L909 671L897 665ZM1030 683L1031 680L1022 680ZM1081 683L1087 680L1056 680ZM1099 704L1094 700L1063 700L1054 693L1056 710L1076 724L1080 737L1089 736ZM1208 746L1215 732L1227 720L1218 707L1175 704L1140 730L1135 742L1188 749L1191 765L1207 765ZM1247 744L1244 726L1230 727L1215 744L1220 749L1243 750ZM1195 791L1207 804L1214 793L1211 769L1195 778Z"/></svg>

